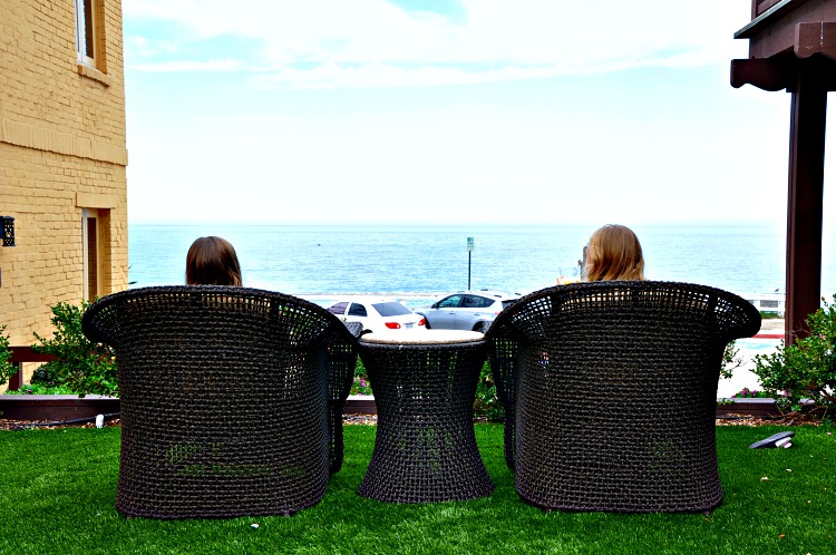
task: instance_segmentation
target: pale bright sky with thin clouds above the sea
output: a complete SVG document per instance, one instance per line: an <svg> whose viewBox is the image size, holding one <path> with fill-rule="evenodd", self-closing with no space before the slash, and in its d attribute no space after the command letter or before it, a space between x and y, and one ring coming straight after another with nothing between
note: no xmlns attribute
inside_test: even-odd
<svg viewBox="0 0 836 555"><path fill-rule="evenodd" d="M786 222L790 95L729 85L750 0L123 10L132 223Z"/></svg>

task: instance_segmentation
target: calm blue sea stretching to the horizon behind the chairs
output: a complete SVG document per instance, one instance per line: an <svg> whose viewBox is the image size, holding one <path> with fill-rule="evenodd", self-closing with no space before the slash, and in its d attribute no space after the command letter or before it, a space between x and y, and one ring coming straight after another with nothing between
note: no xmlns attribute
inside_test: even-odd
<svg viewBox="0 0 836 555"><path fill-rule="evenodd" d="M188 246L202 235L235 246L244 284L295 295L382 293L416 303L467 289L526 293L572 276L592 226L129 226L132 288L184 282ZM634 227L653 280L739 294L784 292L785 231L759 226ZM823 294L836 292L833 237L825 236ZM411 305L410 304L410 305Z"/></svg>

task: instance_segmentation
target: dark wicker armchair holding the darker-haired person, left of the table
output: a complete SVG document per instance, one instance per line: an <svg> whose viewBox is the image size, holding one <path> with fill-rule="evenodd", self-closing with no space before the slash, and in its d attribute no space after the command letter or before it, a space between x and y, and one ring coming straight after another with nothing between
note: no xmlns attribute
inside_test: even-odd
<svg viewBox="0 0 836 555"><path fill-rule="evenodd" d="M322 498L358 328L294 296L197 285L105 296L82 330L117 353L124 515L289 515Z"/></svg>

